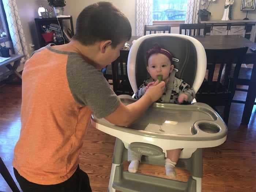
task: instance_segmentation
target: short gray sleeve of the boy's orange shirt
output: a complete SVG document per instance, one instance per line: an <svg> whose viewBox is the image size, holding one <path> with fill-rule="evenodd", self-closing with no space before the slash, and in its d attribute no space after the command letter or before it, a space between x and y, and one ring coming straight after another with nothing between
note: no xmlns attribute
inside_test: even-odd
<svg viewBox="0 0 256 192"><path fill-rule="evenodd" d="M76 102L89 106L98 118L110 115L120 104L101 71L78 54L68 57L67 79Z"/></svg>

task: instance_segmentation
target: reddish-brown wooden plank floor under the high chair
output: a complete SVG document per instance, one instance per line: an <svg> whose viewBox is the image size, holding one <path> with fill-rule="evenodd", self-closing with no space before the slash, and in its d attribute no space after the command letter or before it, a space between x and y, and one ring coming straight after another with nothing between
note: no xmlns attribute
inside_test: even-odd
<svg viewBox="0 0 256 192"><path fill-rule="evenodd" d="M245 95L237 91L236 98ZM21 86L0 87L0 156L14 177L12 157L20 132ZM240 126L244 105L232 103L227 140L224 144L203 150L203 192L256 191L256 122L255 107L248 126ZM94 192L106 192L115 138L89 127L80 154L80 168L90 177ZM125 164L127 169L128 163ZM162 166L140 165L139 172L165 177ZM177 179L186 181L188 173L177 169ZM16 180L15 180L16 181ZM9 192L0 176L0 191Z"/></svg>

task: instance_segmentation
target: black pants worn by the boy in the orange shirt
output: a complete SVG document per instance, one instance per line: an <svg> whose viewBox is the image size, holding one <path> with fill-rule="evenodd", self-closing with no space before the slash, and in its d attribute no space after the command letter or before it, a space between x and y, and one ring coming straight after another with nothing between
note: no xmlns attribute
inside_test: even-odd
<svg viewBox="0 0 256 192"><path fill-rule="evenodd" d="M64 182L55 185L39 185L26 180L18 171L14 169L14 174L19 182L20 188L23 192L26 191L44 191L44 192L91 192L90 182L88 175L77 167L75 173Z"/></svg>

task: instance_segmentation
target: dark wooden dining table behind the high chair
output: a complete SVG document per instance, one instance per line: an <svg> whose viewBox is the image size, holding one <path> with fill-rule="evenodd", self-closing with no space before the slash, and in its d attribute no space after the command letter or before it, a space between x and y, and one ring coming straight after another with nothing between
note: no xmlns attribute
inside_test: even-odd
<svg viewBox="0 0 256 192"><path fill-rule="evenodd" d="M128 58L129 50L132 46L132 43L140 37L141 36L132 36L131 39L127 42L130 46L127 46L126 48L124 47L120 50L120 57ZM241 120L242 125L248 125L251 118L253 106L255 104L256 96L256 52L253 52L250 48L256 48L256 43L249 41L241 35L197 35L192 37L197 39L203 45L204 49L233 49L245 46L248 47L243 63L253 64L253 67L251 79L249 81L248 92L246 95L244 112ZM112 71L113 68L117 68L117 61L114 61L112 63ZM115 76L117 77L118 74L115 74ZM114 78L115 77L113 75L113 82ZM113 88L114 90L116 89L114 83Z"/></svg>

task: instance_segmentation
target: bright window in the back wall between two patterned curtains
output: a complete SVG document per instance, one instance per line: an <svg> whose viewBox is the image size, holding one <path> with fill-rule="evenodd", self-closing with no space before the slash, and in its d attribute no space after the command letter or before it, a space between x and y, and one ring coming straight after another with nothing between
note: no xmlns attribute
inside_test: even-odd
<svg viewBox="0 0 256 192"><path fill-rule="evenodd" d="M187 0L153 0L153 25L184 23Z"/></svg>

